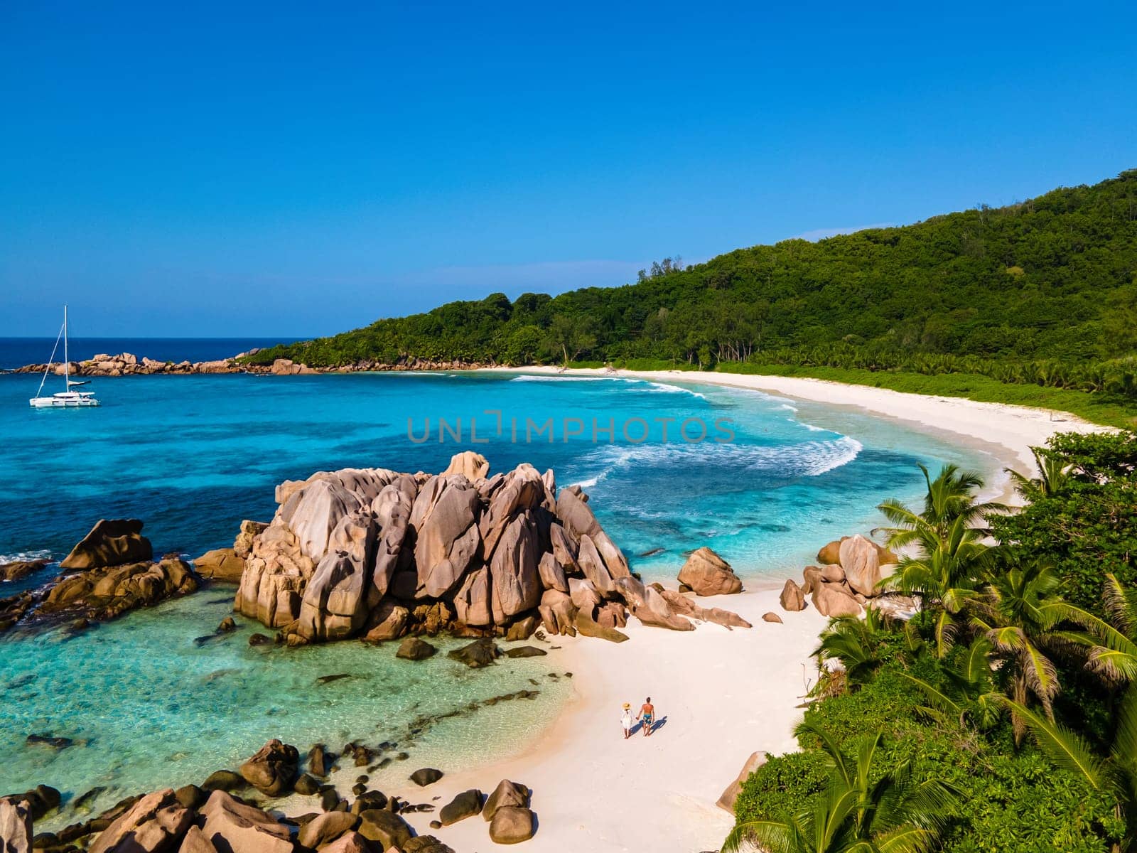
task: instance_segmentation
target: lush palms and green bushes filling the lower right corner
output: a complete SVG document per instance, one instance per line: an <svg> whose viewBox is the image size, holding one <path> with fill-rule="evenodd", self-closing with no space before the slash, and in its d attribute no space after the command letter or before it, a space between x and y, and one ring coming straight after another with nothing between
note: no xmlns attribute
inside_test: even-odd
<svg viewBox="0 0 1137 853"><path fill-rule="evenodd" d="M744 784L728 850L1131 848L1137 434L1036 453L1021 511L976 503L978 478L952 467L923 506L881 506L889 546L908 546L885 582L922 607L830 622L816 656L839 665L820 670L802 752Z"/></svg>

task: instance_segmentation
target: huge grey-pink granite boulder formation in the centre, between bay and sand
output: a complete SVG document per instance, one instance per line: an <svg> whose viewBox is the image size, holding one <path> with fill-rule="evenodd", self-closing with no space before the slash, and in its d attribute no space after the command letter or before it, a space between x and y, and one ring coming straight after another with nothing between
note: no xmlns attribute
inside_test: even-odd
<svg viewBox="0 0 1137 853"><path fill-rule="evenodd" d="M232 549L198 565L229 580L240 569L235 610L289 645L442 630L525 639L539 626L621 641L629 614L672 630L691 630L688 618L749 627L645 586L588 496L558 491L553 471L488 473L466 452L440 474L346 469L287 481L269 523L242 523ZM684 571L706 593L741 588L717 555L696 554Z"/></svg>

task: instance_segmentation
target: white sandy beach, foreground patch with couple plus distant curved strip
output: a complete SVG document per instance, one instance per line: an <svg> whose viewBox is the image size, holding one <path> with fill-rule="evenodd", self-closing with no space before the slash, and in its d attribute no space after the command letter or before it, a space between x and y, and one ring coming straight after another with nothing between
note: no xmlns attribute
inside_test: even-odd
<svg viewBox="0 0 1137 853"><path fill-rule="evenodd" d="M600 371L570 373L605 375ZM678 371L619 375L731 386L856 406L994 446L1002 464L1019 470L1034 470L1029 448L1045 444L1052 433L1101 429L1063 413L811 379ZM489 793L503 778L529 785L539 829L521 847L532 853L719 850L733 823L730 814L715 806L723 788L750 753L777 754L796 746L791 730L802 715L798 706L807 684L816 677L810 653L827 620L812 607L783 612L777 589L704 604L737 611L755 627L728 631L700 624L694 632L672 632L632 620L626 631L631 640L621 645L553 638L551 645L562 648L549 653L559 659L548 660L556 661L558 670L574 673L574 696L537 743L518 757L448 773L426 789L407 782L401 789L384 790L440 808L466 788ZM781 615L783 623L763 622L767 611ZM638 709L648 695L665 723L649 739L637 736L625 743L619 727L621 704L630 702ZM408 820L420 833L432 833L455 850L496 846L481 818L432 830L428 823L433 817L412 814Z"/></svg>

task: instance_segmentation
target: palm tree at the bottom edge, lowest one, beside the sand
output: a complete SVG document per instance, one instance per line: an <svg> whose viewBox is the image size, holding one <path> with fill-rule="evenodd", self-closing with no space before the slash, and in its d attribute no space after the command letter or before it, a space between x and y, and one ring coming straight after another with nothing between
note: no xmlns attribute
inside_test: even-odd
<svg viewBox="0 0 1137 853"><path fill-rule="evenodd" d="M875 772L882 732L862 740L855 761L820 726L803 722L795 734L820 738L829 755L832 777L824 796L789 820L739 823L723 853L739 850L744 840L769 853L922 853L938 843L957 792L937 780L916 784L906 764Z"/></svg>

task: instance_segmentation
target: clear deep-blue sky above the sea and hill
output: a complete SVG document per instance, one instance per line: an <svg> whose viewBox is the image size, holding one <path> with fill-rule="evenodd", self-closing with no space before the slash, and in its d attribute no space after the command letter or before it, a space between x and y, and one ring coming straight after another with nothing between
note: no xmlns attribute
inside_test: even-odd
<svg viewBox="0 0 1137 853"><path fill-rule="evenodd" d="M1131 6L780 6L0 0L0 336L330 333L1137 166Z"/></svg>

